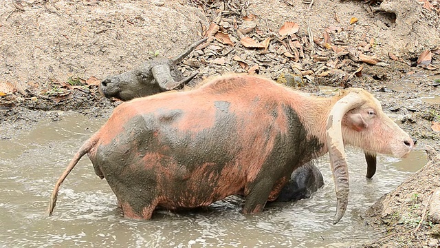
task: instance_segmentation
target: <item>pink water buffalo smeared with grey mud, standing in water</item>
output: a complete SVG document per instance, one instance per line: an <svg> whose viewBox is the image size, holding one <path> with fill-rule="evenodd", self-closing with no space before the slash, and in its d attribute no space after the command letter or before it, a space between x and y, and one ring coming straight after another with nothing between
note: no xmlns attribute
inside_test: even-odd
<svg viewBox="0 0 440 248"><path fill-rule="evenodd" d="M360 147L371 161L376 152L405 157L414 143L365 90L324 98L259 76L220 76L116 107L58 179L48 211L85 154L124 216L148 219L157 206L201 207L232 194L245 197L245 214L260 212L294 169L329 152L336 224L349 196L344 145Z"/></svg>

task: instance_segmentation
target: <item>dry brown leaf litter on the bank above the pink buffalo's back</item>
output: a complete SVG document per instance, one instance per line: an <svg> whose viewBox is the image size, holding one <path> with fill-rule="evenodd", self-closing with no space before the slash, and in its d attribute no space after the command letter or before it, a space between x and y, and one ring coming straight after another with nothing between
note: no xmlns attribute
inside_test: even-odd
<svg viewBox="0 0 440 248"><path fill-rule="evenodd" d="M329 25L320 34L312 34L293 20L286 20L278 30L270 30L256 14L248 10L249 1L192 0L211 19L203 27L208 41L181 65L189 74L198 61L202 77L225 72L265 74L276 80L281 74L297 74L305 82L350 87L351 79L362 76L362 63L386 67L387 61L375 56L375 40L362 36L358 46L349 37L357 17L347 23ZM410 63L388 54L389 59ZM424 62L423 62L424 63ZM422 65L423 65L422 63ZM294 68L294 69L292 69ZM428 68L428 65L426 65Z"/></svg>

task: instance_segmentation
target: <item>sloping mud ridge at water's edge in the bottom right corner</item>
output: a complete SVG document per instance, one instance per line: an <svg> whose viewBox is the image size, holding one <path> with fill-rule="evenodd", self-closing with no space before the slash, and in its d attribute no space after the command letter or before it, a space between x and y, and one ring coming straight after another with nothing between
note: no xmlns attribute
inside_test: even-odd
<svg viewBox="0 0 440 248"><path fill-rule="evenodd" d="M440 246L440 154L427 152L425 167L366 211L366 223L383 232L366 247Z"/></svg>

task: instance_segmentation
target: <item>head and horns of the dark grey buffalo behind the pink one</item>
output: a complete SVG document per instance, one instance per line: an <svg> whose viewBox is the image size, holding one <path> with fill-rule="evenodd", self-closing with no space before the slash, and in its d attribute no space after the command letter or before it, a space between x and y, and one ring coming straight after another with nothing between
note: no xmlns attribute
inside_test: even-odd
<svg viewBox="0 0 440 248"><path fill-rule="evenodd" d="M128 101L141 96L166 92L179 87L179 85L184 85L194 78L197 72L193 72L181 81L175 81L172 76L173 69L203 41L206 41L206 38L193 43L186 51L171 59L153 58L134 70L107 76L100 83L100 91L107 98L115 97L122 101Z"/></svg>

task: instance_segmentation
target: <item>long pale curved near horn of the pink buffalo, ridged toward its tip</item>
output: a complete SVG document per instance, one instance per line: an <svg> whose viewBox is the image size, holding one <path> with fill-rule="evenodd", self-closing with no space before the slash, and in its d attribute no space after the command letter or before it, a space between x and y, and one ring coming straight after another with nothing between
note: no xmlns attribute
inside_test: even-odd
<svg viewBox="0 0 440 248"><path fill-rule="evenodd" d="M335 181L338 205L333 224L344 216L349 200L349 168L345 158L344 141L342 140L342 117L349 111L364 103L357 93L351 92L336 102L327 117L327 147L329 148L331 172Z"/></svg>

